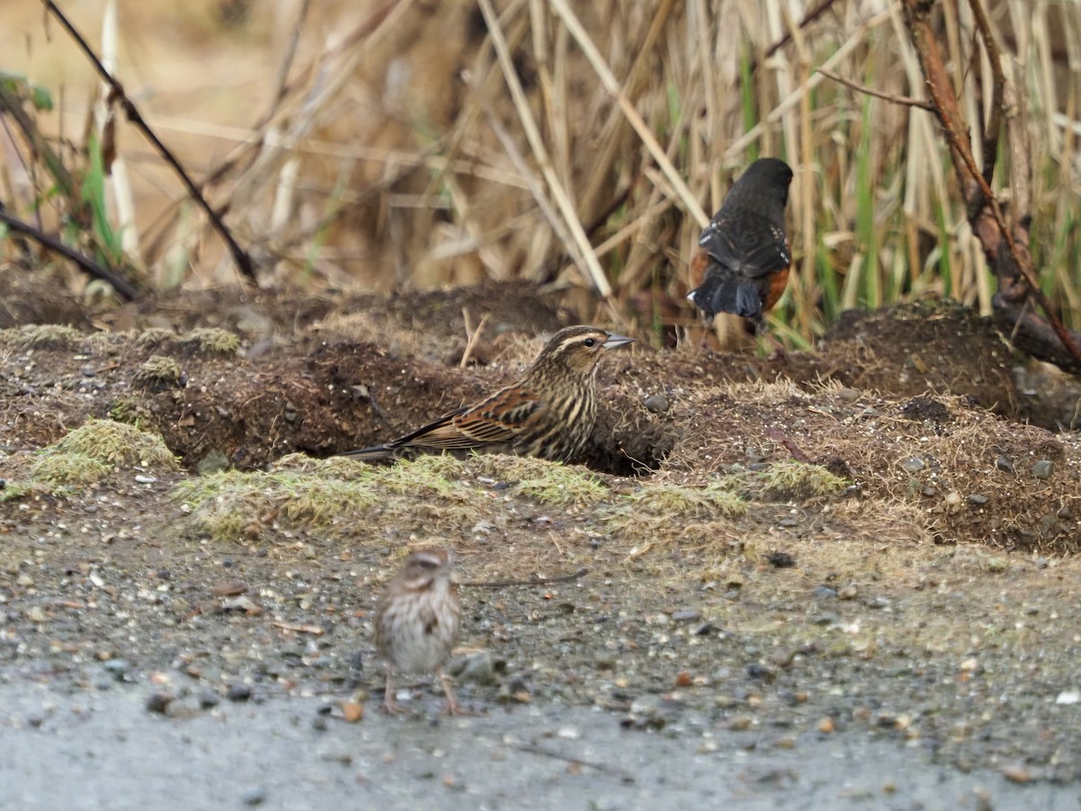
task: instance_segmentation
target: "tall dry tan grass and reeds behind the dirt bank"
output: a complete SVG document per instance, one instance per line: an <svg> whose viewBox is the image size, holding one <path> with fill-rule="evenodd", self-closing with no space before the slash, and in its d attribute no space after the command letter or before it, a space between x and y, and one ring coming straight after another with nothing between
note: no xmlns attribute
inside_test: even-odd
<svg viewBox="0 0 1081 811"><path fill-rule="evenodd" d="M835 3L802 27L814 4L780 0L369 0L319 4L298 24L292 2L239 19L215 17L208 3L150 5L123 12L118 53L131 64L121 62L120 78L197 175L227 167L212 198L277 278L390 289L518 276L564 288L584 317L611 289L610 317L659 332L693 320L682 295L704 217L750 160L777 155L797 170L789 209L799 272L775 323L786 341L819 334L841 308L899 297L990 308L993 280L930 115L816 72L920 96L896 3ZM966 4L942 8L975 130L978 71L967 66L982 54L971 53ZM1081 131L1081 70L1071 66L1081 58L1066 36L1081 25L1081 6L1001 0L991 11L1015 57L1028 138L1006 150L996 185L1031 199L1043 282L1081 311L1068 272L1081 260L1069 194ZM188 54L213 38L215 61L196 71L205 84L162 80L168 66L156 54L173 51L155 45L152 31L171 28L168 13L183 14ZM77 22L93 40L99 21L80 12ZM25 66L55 92L55 68L37 68L59 57L74 70L74 49L63 38L45 46L40 25L21 24L40 51L18 62L23 49L6 49L14 64L0 68ZM81 130L84 88L63 99L67 133ZM45 131L61 128L57 114L38 119ZM118 228L135 264L158 284L228 277L216 238L176 204L174 181L135 138L120 147L134 211L150 214ZM16 205L43 197L31 175L5 169Z"/></svg>

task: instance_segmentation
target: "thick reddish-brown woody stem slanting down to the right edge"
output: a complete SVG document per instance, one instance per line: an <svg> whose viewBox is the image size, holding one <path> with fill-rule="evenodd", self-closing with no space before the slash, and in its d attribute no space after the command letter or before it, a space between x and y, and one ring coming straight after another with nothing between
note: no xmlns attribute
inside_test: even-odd
<svg viewBox="0 0 1081 811"><path fill-rule="evenodd" d="M912 45L916 48L920 65L923 68L923 76L927 83L927 93L931 96L935 116L943 127L946 141L955 158L953 167L958 173L958 181L964 196L969 222L972 224L973 231L977 235L984 248L988 264L996 268L999 284L1002 288L1000 295L1005 294L1009 297L1018 295L1020 291L1017 290L1016 285L1011 283L1010 274L1013 274L1014 277L1017 274L1023 276L1028 284L1027 294L1035 297L1040 305L1051 329L1058 336L1072 363L1081 367L1081 348L1079 348L1079 342L1075 340L1076 336L1071 336L1063 322L1055 316L1051 307L1051 302L1047 301L1036 278L1031 255L1018 244L1018 240L1014 236L1014 230L1006 224L998 198L995 196L985 176L985 174L993 174L995 171L995 158L998 151L997 135L993 142L989 142L996 145L995 151L985 155L988 168L982 172L976 165L976 160L972 155L971 143L969 142L967 127L953 96L949 74L946 70L946 64L943 61L942 51L938 48L938 41L931 25L931 9L933 3L927 2L927 0L903 0L903 3L905 24L908 26ZM970 4L973 8L974 14L978 17L983 13L983 9L978 8L979 0L970 0ZM977 27L982 37L985 35L989 37L990 28L986 24L986 18L984 19L984 27L979 27L978 25ZM985 41L985 44L987 42L992 42L992 40L988 39ZM991 51L990 49L992 48L993 44L988 45L988 53L997 55L998 51ZM999 98L1001 104L1001 95L997 95L996 97ZM1000 121L1001 119L992 115L992 120ZM986 213L988 209L990 210L990 217ZM1003 241L1005 242L1005 251L1002 250Z"/></svg>

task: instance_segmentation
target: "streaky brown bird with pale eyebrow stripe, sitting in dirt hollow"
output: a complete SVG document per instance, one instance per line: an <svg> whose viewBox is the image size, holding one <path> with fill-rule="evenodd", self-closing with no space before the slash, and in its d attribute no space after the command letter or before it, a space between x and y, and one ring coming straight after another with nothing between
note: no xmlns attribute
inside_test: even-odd
<svg viewBox="0 0 1081 811"><path fill-rule="evenodd" d="M566 327L516 383L386 444L349 451L365 461L404 451L492 451L571 460L597 424L597 361L633 338L597 327Z"/></svg>

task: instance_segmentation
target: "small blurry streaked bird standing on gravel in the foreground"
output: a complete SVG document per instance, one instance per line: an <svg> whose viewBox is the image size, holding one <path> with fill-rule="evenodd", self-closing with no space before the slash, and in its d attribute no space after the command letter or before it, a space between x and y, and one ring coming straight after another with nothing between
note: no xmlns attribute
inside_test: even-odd
<svg viewBox="0 0 1081 811"><path fill-rule="evenodd" d="M391 673L435 673L446 693L446 713L459 712L454 691L443 675L462 626L462 603L451 575L454 559L438 546L415 549L390 581L375 612L375 648L387 661L387 690L383 705L399 712Z"/></svg>

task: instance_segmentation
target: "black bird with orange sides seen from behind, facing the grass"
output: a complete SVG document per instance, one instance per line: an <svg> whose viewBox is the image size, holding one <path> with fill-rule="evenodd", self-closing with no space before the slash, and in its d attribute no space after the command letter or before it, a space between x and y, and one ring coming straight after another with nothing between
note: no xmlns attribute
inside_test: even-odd
<svg viewBox="0 0 1081 811"><path fill-rule="evenodd" d="M769 311L788 282L792 257L785 238L785 204L792 170L783 160L760 158L736 181L720 211L698 238L691 261L697 288L688 294L706 323L732 313L765 329Z"/></svg>

